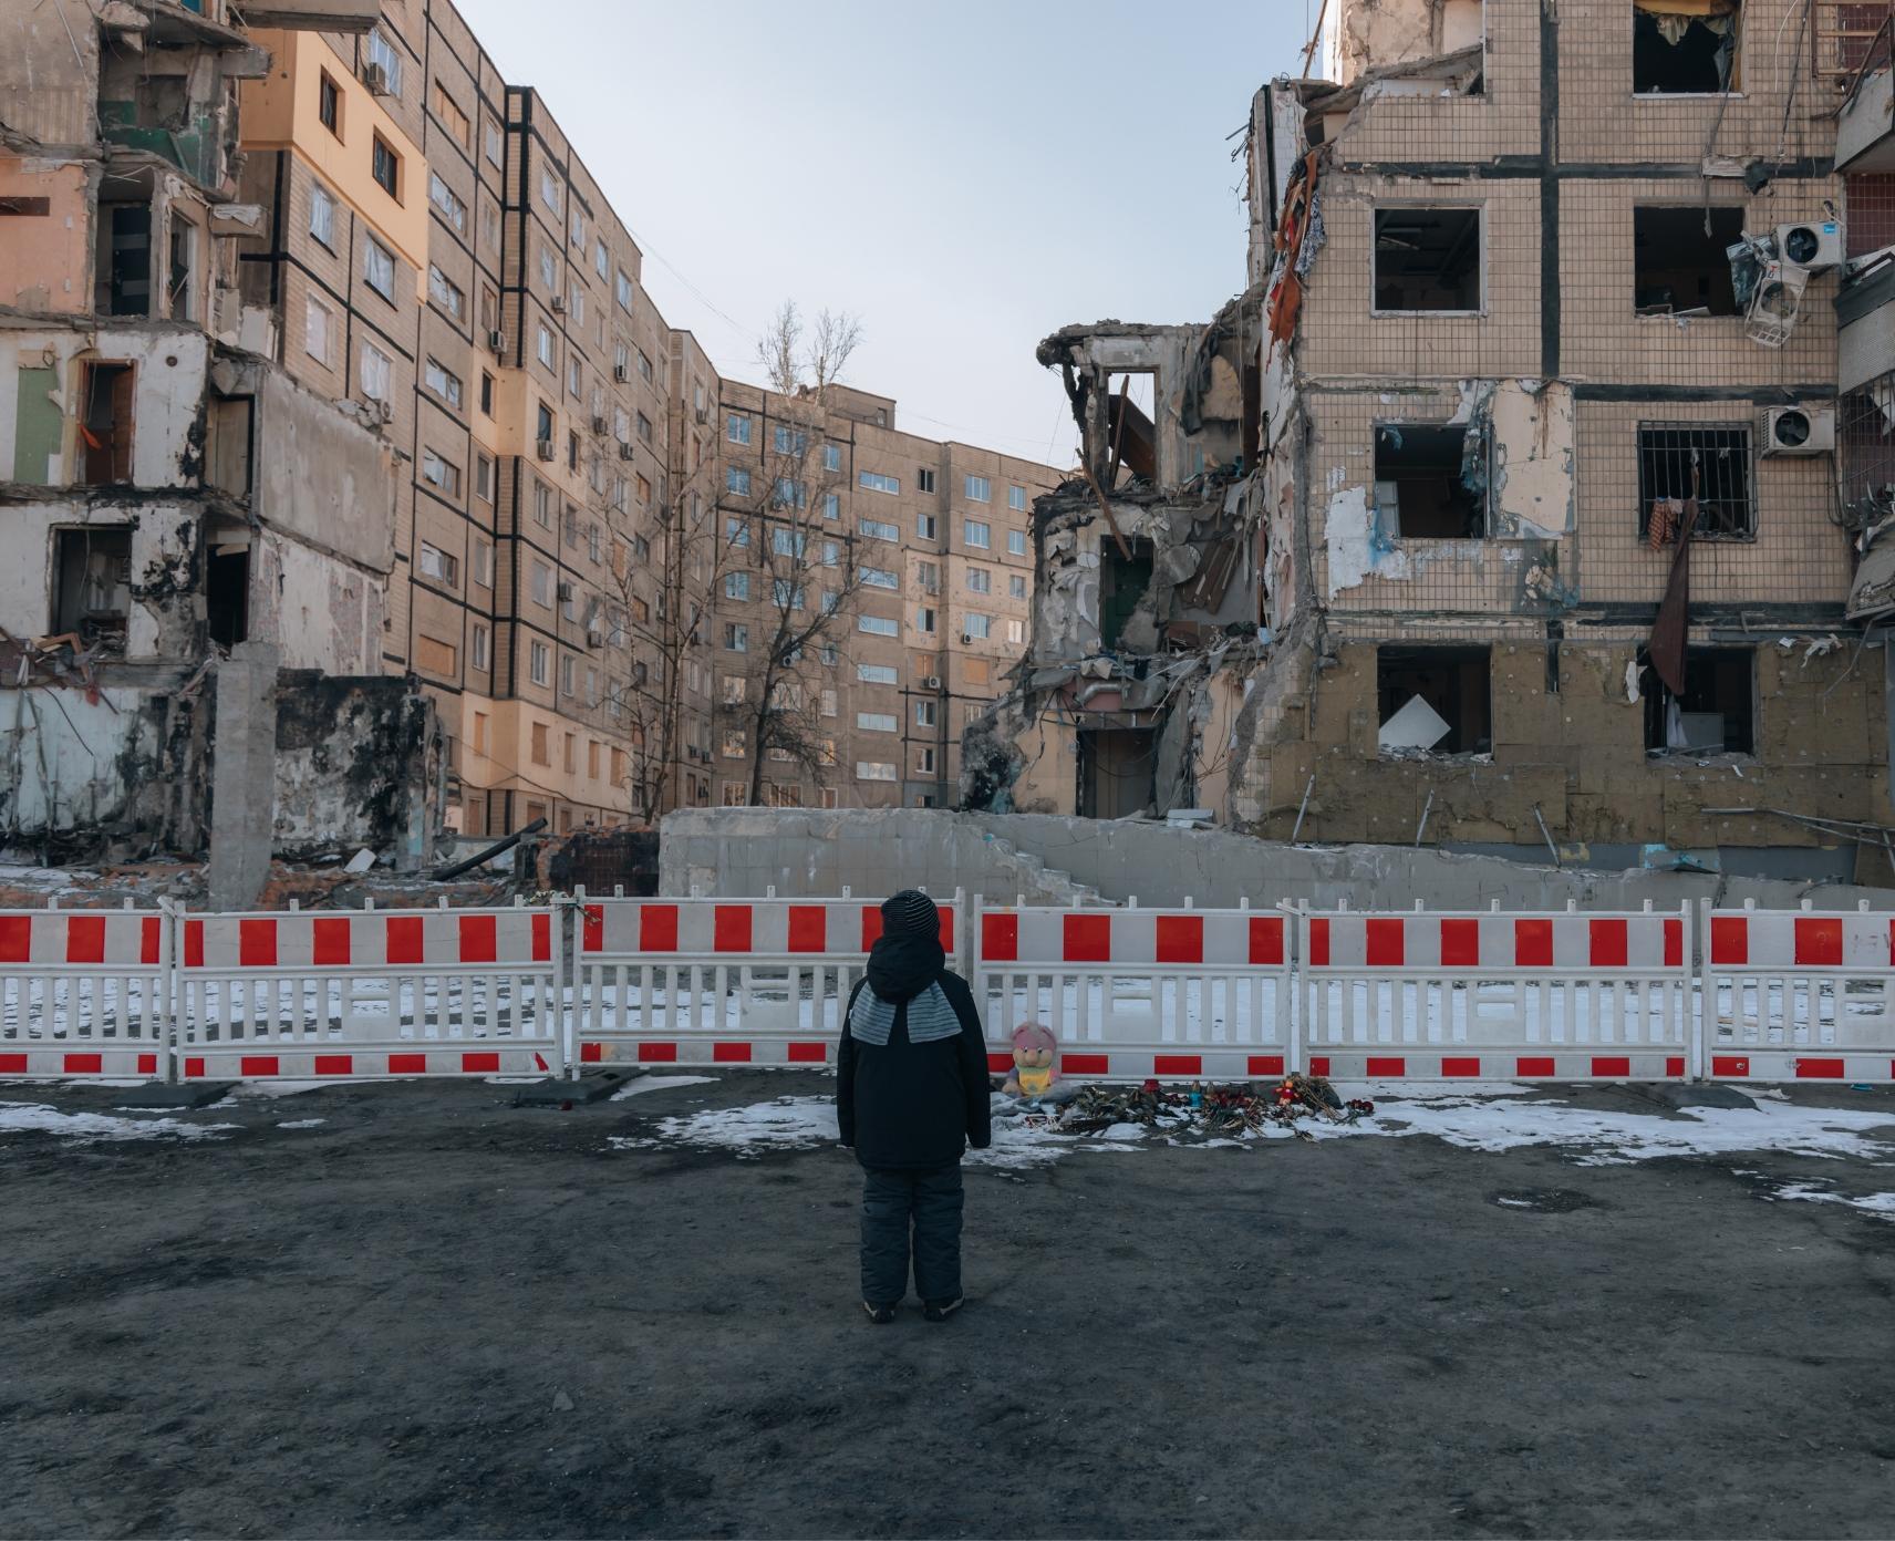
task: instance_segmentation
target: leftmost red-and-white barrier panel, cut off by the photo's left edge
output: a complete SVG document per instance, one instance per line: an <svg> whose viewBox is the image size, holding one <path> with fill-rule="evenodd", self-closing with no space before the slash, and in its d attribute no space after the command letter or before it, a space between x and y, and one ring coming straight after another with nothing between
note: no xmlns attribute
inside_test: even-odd
<svg viewBox="0 0 1895 1541"><path fill-rule="evenodd" d="M0 912L0 1075L165 1075L169 980L165 914Z"/></svg>

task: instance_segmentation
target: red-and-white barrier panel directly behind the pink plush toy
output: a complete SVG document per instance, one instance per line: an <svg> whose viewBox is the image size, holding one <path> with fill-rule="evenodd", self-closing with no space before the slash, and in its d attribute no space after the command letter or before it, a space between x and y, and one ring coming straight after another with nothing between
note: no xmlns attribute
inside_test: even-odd
<svg viewBox="0 0 1895 1541"><path fill-rule="evenodd" d="M1084 1080L1247 1080L1294 1067L1289 919L1268 910L982 908L974 999L995 1071L1038 1024Z"/></svg>

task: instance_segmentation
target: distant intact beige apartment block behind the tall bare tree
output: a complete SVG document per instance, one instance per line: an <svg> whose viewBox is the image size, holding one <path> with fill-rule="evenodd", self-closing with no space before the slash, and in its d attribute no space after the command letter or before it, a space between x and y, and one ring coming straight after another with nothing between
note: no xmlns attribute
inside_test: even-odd
<svg viewBox="0 0 1895 1541"><path fill-rule="evenodd" d="M718 800L953 806L961 734L1023 652L1031 506L1057 472L902 432L847 387L724 381L720 423ZM769 639L805 631L777 679Z"/></svg>

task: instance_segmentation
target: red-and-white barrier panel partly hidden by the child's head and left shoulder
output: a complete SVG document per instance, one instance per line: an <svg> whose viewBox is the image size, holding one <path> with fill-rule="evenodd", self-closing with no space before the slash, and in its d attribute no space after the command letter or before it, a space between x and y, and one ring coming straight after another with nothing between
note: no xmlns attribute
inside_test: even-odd
<svg viewBox="0 0 1895 1541"><path fill-rule="evenodd" d="M949 967L961 912L942 904ZM582 1063L828 1065L881 936L879 898L601 898L582 904Z"/></svg>

